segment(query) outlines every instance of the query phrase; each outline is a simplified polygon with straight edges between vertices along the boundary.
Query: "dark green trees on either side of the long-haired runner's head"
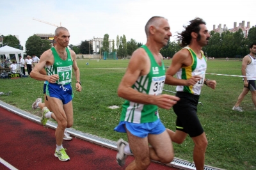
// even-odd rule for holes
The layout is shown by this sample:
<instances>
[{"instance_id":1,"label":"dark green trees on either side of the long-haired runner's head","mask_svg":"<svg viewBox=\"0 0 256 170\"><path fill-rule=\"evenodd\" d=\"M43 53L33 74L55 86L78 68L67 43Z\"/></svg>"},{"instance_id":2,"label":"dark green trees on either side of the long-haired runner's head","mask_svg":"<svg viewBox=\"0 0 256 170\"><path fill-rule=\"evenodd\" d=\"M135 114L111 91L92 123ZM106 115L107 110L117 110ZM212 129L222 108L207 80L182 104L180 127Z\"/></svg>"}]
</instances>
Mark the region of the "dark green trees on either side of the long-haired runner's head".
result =
<instances>
[{"instance_id":1,"label":"dark green trees on either side of the long-haired runner's head","mask_svg":"<svg viewBox=\"0 0 256 170\"><path fill-rule=\"evenodd\" d=\"M256 27L252 27L248 31L247 38L244 37L242 29L232 33L225 31L223 33L210 32L211 38L208 45L203 47L205 56L214 58L236 58L238 56L246 56L250 53L249 47L252 43L256 43ZM168 42L160 52L163 57L170 57L181 49L180 42Z\"/></svg>"}]
</instances>

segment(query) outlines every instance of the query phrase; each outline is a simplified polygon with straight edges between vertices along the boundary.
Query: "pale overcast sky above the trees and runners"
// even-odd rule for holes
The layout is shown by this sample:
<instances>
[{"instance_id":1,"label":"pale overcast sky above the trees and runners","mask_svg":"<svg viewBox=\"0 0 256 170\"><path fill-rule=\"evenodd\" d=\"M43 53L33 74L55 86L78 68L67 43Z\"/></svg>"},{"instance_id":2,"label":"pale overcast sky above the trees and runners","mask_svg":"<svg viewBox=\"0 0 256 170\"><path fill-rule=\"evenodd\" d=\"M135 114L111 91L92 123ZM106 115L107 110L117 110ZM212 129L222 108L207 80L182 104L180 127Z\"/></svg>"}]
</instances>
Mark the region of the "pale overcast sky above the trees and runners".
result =
<instances>
[{"instance_id":1,"label":"pale overcast sky above the trees and runners","mask_svg":"<svg viewBox=\"0 0 256 170\"><path fill-rule=\"evenodd\" d=\"M234 22L239 26L243 20L245 26L250 22L252 27L256 25L256 18L250 6L254 5L255 0L1 0L0 34L18 35L24 47L29 36L54 34L56 27L33 20L35 18L59 26L61 22L70 32L70 44L74 45L93 36L103 38L105 34L115 42L117 35L125 35L127 41L132 38L146 43L144 27L150 17L168 19L173 35L195 17L204 19L209 31L214 24L216 27L226 24L230 29Z\"/></svg>"}]
</instances>

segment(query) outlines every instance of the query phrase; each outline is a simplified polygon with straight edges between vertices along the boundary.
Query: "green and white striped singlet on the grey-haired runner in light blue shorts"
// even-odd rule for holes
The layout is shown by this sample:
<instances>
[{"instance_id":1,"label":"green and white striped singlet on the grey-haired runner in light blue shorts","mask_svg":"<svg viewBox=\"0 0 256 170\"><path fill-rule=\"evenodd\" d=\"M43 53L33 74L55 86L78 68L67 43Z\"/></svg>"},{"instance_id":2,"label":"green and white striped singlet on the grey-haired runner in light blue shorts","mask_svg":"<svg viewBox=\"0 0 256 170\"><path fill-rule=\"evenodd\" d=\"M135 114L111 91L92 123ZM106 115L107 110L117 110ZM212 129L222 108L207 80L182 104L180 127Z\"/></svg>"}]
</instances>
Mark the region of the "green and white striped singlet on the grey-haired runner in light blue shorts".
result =
<instances>
[{"instance_id":1,"label":"green and white striped singlet on the grey-haired runner in light blue shorts","mask_svg":"<svg viewBox=\"0 0 256 170\"><path fill-rule=\"evenodd\" d=\"M147 75L138 77L132 88L148 95L161 95L165 81L165 69L159 66L146 45L141 46L150 58L150 72ZM143 64L143 63L141 63ZM125 100L122 105L122 114L120 121L129 121L131 123L148 123L159 119L157 105L137 104Z\"/></svg>"}]
</instances>

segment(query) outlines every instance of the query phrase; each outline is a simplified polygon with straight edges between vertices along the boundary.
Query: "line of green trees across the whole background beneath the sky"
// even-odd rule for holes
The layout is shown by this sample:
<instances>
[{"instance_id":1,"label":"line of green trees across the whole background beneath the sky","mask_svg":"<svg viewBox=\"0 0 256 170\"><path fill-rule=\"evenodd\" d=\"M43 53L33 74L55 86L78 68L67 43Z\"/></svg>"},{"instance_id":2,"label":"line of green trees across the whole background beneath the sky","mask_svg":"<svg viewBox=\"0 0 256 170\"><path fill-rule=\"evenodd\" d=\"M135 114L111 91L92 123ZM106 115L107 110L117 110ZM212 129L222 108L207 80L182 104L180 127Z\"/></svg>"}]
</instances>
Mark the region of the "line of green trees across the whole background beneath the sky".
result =
<instances>
[{"instance_id":1,"label":"line of green trees across the whole background beneath the sky","mask_svg":"<svg viewBox=\"0 0 256 170\"><path fill-rule=\"evenodd\" d=\"M242 29L237 32L232 33L230 31L225 31L223 33L210 32L211 38L209 44L203 47L205 56L214 58L236 58L236 56L246 56L250 53L249 46L252 43L256 43L256 27L252 27L248 31L247 38L244 37ZM1 36L3 38L3 46L8 45L17 49L23 50L22 45L20 45L19 40L13 35ZM116 40L111 40L111 48L109 48L109 35L105 34L100 50L95 52L116 52L119 58L124 58L126 56L131 56L134 50L138 49L143 45L140 42L132 39L127 42L126 36L116 36ZM29 36L26 41L26 54L32 56L40 56L45 50L50 49L52 44L48 40L42 40L39 36L33 35ZM81 45L68 45L68 47L76 54L93 54L93 45L90 41L81 41ZM115 48L116 47L116 48ZM163 57L170 57L181 49L179 41L168 41L167 45L163 47L160 52ZM3 56L2 56L3 58Z\"/></svg>"}]
</instances>

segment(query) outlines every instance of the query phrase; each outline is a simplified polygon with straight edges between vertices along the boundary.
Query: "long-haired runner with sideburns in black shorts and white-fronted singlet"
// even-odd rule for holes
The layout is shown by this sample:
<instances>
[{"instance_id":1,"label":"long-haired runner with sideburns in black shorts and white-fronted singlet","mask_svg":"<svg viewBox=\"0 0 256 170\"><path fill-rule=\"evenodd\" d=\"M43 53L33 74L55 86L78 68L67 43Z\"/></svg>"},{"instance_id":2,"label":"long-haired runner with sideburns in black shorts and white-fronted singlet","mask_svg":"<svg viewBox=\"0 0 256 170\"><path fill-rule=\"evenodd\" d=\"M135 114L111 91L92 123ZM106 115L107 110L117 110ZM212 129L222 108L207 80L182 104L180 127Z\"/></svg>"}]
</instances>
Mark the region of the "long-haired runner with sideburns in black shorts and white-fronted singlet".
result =
<instances>
[{"instance_id":1,"label":"long-haired runner with sideburns in black shorts and white-fronted singlet","mask_svg":"<svg viewBox=\"0 0 256 170\"><path fill-rule=\"evenodd\" d=\"M202 86L207 84L212 89L216 87L216 81L205 79L207 68L206 59L202 47L207 45L210 38L204 20L196 18L190 21L179 40L184 49L177 52L172 59L170 68L166 71L166 84L177 86L176 96L180 98L173 105L173 111L177 114L176 131L167 129L168 134L175 143L182 143L187 134L195 143L194 162L197 170L204 169L205 150L207 139L200 121L196 115L197 104ZM177 78L173 77L177 75Z\"/></svg>"}]
</instances>

